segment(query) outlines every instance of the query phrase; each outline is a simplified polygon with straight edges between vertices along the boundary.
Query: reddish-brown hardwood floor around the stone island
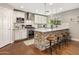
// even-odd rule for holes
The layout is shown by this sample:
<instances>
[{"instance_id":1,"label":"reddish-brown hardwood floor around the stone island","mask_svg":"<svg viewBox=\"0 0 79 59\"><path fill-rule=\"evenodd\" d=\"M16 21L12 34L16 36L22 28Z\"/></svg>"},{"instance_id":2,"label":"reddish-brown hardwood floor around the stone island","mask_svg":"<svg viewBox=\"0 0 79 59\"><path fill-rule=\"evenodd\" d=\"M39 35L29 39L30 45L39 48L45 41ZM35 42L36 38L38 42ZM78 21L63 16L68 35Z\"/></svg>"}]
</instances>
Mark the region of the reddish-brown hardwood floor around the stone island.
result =
<instances>
[{"instance_id":1,"label":"reddish-brown hardwood floor around the stone island","mask_svg":"<svg viewBox=\"0 0 79 59\"><path fill-rule=\"evenodd\" d=\"M58 54L79 55L79 42L72 41L68 47L58 51ZM40 51L34 45L26 46L23 41L20 41L0 48L0 55L49 55L49 49Z\"/></svg>"}]
</instances>

